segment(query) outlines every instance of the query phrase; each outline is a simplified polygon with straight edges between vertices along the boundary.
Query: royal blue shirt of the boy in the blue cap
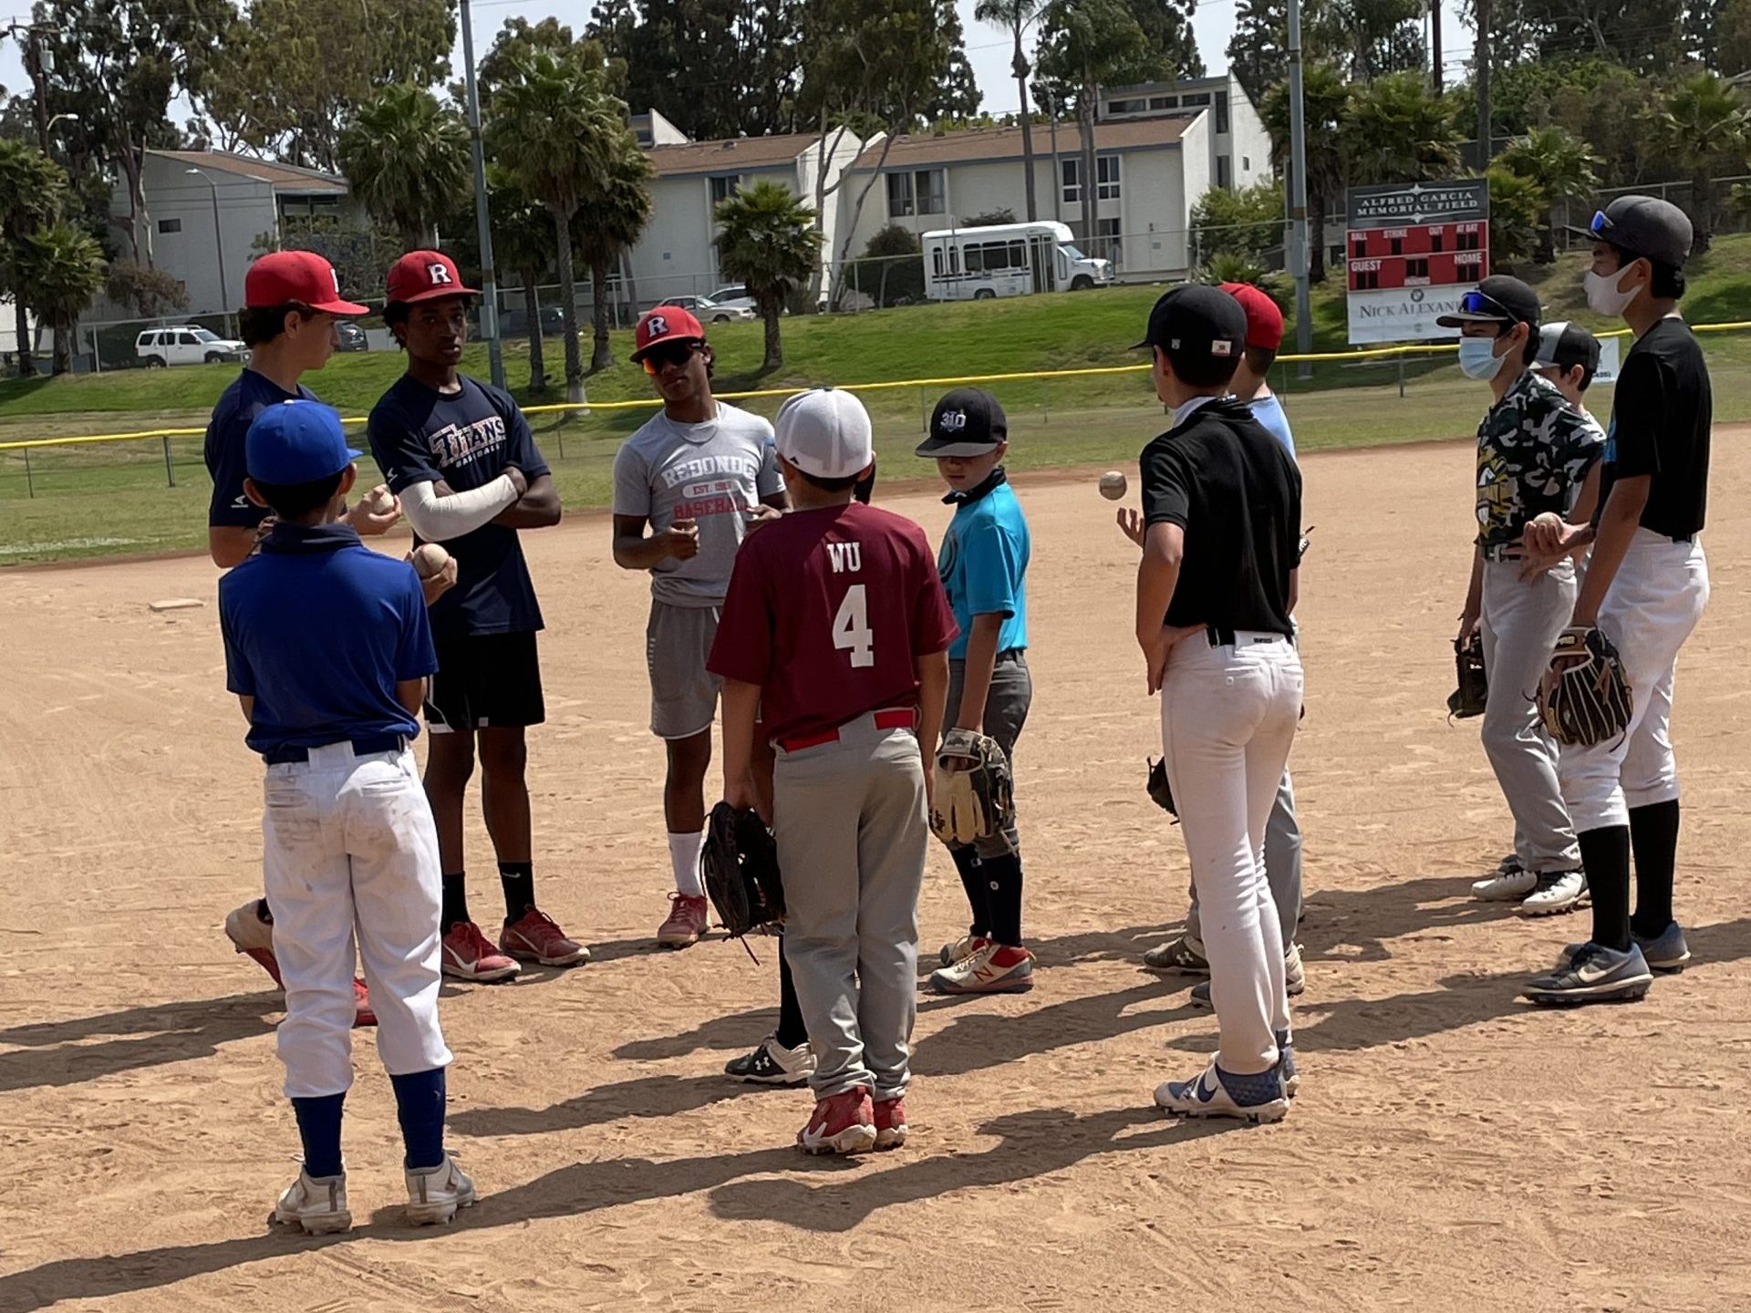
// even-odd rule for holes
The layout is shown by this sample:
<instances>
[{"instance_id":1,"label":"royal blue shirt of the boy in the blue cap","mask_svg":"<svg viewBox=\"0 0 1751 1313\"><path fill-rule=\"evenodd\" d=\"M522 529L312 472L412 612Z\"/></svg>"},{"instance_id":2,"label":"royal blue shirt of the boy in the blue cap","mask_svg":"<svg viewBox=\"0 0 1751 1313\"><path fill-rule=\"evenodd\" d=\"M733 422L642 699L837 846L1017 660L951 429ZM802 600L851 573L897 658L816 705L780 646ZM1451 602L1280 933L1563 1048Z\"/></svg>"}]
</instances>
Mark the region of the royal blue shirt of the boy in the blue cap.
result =
<instances>
[{"instance_id":1,"label":"royal blue shirt of the boy in the blue cap","mask_svg":"<svg viewBox=\"0 0 1751 1313\"><path fill-rule=\"evenodd\" d=\"M420 576L348 525L275 525L219 579L219 632L226 688L256 699L243 742L257 753L420 732L396 700L397 683L438 671Z\"/></svg>"}]
</instances>

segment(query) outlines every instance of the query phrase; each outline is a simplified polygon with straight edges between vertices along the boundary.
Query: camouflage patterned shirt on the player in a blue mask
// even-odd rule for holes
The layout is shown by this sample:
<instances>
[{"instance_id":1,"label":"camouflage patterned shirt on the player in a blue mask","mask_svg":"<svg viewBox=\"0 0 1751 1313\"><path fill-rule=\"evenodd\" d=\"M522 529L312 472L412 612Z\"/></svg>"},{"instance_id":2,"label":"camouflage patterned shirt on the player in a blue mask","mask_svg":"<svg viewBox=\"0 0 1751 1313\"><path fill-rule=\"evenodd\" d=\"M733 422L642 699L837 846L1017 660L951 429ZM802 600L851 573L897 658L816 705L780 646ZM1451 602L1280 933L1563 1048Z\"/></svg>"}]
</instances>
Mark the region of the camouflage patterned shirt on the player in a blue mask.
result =
<instances>
[{"instance_id":1,"label":"camouflage patterned shirt on the player in a blue mask","mask_svg":"<svg viewBox=\"0 0 1751 1313\"><path fill-rule=\"evenodd\" d=\"M1543 511L1567 515L1606 432L1555 383L1527 369L1478 425L1478 543L1518 543Z\"/></svg>"}]
</instances>

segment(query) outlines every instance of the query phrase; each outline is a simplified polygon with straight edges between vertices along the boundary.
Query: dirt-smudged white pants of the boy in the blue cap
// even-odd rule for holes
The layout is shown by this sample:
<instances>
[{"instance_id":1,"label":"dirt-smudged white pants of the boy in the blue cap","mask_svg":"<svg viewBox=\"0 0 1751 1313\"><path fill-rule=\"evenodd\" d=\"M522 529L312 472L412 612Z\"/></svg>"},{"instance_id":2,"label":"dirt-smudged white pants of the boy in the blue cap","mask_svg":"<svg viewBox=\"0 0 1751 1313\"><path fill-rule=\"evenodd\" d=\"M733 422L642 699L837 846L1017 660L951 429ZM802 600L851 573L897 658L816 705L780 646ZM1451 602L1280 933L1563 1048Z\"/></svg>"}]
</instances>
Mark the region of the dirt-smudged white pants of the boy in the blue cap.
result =
<instances>
[{"instance_id":1,"label":"dirt-smudged white pants of the boy in the blue cap","mask_svg":"<svg viewBox=\"0 0 1751 1313\"><path fill-rule=\"evenodd\" d=\"M447 1066L438 832L413 753L312 748L308 762L270 765L263 795L263 875L285 980L285 1094L322 1098L352 1085L355 959L389 1073Z\"/></svg>"}]
</instances>

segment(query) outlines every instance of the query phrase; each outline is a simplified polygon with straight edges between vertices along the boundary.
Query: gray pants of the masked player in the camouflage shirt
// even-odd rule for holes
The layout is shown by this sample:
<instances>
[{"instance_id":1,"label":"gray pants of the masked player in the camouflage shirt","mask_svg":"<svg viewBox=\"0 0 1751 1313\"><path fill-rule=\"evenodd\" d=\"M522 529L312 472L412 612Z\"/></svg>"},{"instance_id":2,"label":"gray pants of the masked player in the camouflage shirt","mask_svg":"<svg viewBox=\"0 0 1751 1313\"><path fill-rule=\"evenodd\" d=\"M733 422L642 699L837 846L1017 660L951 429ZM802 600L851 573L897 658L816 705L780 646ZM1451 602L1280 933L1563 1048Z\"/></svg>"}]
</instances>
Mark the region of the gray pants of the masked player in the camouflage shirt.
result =
<instances>
[{"instance_id":1,"label":"gray pants of the masked player in the camouflage shirt","mask_svg":"<svg viewBox=\"0 0 1751 1313\"><path fill-rule=\"evenodd\" d=\"M1515 854L1530 872L1574 870L1581 846L1557 776L1557 744L1537 711L1537 685L1564 627L1574 618L1574 562L1530 583L1518 560L1483 562L1483 751L1515 818Z\"/></svg>"}]
</instances>

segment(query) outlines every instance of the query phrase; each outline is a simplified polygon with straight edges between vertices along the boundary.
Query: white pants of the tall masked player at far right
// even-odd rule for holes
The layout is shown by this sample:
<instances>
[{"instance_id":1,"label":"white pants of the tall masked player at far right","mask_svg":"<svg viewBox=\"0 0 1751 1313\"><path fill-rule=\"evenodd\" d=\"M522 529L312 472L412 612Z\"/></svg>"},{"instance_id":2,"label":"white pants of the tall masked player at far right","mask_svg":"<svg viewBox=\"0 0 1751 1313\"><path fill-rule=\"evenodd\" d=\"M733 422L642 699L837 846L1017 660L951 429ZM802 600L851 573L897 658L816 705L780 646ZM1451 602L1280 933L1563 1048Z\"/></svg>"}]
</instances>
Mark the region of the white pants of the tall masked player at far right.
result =
<instances>
[{"instance_id":1,"label":"white pants of the tall masked player at far right","mask_svg":"<svg viewBox=\"0 0 1751 1313\"><path fill-rule=\"evenodd\" d=\"M1677 798L1672 758L1672 679L1677 649L1709 604L1702 541L1674 543L1637 529L1604 602L1599 630L1630 683L1630 728L1592 748L1564 748L1562 793L1578 832L1630 823L1632 807Z\"/></svg>"}]
</instances>

